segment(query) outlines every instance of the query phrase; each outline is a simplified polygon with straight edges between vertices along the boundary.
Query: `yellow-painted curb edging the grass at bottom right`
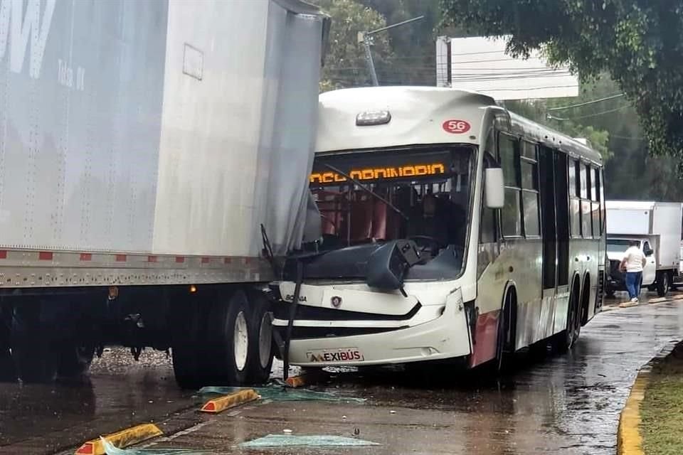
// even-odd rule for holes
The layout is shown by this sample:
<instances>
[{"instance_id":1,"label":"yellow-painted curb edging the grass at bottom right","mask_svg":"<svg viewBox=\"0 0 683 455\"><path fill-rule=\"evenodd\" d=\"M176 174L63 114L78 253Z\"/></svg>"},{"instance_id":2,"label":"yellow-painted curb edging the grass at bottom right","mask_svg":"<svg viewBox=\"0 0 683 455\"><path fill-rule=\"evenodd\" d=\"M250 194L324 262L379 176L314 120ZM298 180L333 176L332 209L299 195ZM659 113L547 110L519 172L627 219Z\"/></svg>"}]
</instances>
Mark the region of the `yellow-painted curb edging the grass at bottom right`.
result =
<instances>
[{"instance_id":1,"label":"yellow-painted curb edging the grass at bottom right","mask_svg":"<svg viewBox=\"0 0 683 455\"><path fill-rule=\"evenodd\" d=\"M652 367L662 361L678 345L679 341L671 341L650 362L640 368L635 382L619 416L617 429L618 455L644 455L642 436L640 434L640 403L645 398L645 389L650 383Z\"/></svg>"}]
</instances>

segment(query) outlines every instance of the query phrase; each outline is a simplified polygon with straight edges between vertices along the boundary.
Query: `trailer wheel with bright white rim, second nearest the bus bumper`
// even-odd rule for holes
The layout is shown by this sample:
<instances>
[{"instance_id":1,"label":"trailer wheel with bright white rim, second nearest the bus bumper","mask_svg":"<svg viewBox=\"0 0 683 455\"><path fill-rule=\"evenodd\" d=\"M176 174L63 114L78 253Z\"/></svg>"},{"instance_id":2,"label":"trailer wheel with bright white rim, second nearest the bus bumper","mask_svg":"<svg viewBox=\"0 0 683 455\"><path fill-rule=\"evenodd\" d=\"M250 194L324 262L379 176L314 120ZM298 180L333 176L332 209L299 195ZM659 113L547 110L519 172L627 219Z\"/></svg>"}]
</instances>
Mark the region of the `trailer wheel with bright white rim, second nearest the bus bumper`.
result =
<instances>
[{"instance_id":1,"label":"trailer wheel with bright white rim, second nearest the bus bumper","mask_svg":"<svg viewBox=\"0 0 683 455\"><path fill-rule=\"evenodd\" d=\"M244 385L248 382L250 324L247 296L236 291L228 300L217 301L208 323L212 355L211 372L216 385Z\"/></svg>"}]
</instances>

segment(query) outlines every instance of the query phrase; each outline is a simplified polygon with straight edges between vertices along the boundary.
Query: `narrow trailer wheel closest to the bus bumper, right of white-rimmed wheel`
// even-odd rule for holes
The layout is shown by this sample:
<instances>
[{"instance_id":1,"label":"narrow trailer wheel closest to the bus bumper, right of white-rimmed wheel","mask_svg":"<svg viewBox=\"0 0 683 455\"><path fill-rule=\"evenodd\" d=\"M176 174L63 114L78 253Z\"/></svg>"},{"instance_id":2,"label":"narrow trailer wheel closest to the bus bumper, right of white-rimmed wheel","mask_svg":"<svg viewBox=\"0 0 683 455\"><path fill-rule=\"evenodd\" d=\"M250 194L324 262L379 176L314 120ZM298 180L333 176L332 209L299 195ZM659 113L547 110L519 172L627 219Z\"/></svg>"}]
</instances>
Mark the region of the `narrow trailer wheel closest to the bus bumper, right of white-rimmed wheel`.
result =
<instances>
[{"instance_id":1,"label":"narrow trailer wheel closest to the bus bumper, right of white-rimmed wheel","mask_svg":"<svg viewBox=\"0 0 683 455\"><path fill-rule=\"evenodd\" d=\"M250 295L250 308L252 309L251 340L250 348L251 364L249 369L249 382L253 384L265 384L270 379L272 359L275 350L272 341L272 311L268 301L260 295Z\"/></svg>"}]
</instances>

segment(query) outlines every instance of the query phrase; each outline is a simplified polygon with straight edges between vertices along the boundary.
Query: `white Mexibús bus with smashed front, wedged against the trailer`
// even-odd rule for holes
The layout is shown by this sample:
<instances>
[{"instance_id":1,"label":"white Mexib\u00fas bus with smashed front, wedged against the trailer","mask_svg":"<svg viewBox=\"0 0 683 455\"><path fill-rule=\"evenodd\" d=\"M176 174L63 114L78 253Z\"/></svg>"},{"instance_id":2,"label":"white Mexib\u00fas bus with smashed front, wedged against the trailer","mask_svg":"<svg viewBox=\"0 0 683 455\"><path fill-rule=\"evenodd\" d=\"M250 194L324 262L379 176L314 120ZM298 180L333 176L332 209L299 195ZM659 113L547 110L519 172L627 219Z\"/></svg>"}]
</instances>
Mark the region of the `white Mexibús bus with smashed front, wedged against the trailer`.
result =
<instances>
[{"instance_id":1,"label":"white Mexib\u00fas bus with smashed front, wedged against the trailer","mask_svg":"<svg viewBox=\"0 0 683 455\"><path fill-rule=\"evenodd\" d=\"M320 96L316 151L322 235L272 284L292 365L500 365L571 348L600 311L603 173L581 141L475 92L369 87Z\"/></svg>"}]
</instances>

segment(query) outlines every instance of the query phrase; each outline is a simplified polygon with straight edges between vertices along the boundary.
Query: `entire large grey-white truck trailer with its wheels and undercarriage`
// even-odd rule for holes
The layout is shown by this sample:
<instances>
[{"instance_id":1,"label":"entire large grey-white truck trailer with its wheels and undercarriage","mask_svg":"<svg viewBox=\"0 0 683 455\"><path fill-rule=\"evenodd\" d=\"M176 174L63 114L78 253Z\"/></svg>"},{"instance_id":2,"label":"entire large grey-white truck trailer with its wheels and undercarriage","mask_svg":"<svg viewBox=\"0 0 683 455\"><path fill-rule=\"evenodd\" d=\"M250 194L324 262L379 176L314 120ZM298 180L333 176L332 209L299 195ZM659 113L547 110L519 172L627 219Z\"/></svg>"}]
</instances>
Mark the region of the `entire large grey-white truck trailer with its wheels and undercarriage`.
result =
<instances>
[{"instance_id":1,"label":"entire large grey-white truck trailer with its wheels and undercarriage","mask_svg":"<svg viewBox=\"0 0 683 455\"><path fill-rule=\"evenodd\" d=\"M0 0L2 379L106 343L268 378L263 233L302 239L328 30L298 0Z\"/></svg>"}]
</instances>

